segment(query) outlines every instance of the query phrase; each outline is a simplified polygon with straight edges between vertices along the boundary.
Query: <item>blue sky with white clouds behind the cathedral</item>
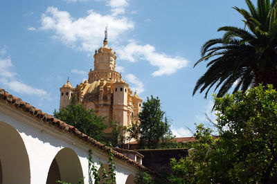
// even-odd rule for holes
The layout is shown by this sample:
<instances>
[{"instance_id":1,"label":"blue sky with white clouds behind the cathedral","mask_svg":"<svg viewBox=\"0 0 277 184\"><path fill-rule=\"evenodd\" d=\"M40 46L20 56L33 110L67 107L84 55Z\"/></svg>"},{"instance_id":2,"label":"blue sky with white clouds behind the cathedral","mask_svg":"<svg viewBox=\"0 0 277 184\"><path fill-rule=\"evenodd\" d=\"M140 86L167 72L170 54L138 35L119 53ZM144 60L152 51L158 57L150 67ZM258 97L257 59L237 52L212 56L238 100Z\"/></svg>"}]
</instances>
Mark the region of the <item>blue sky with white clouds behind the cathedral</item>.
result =
<instances>
[{"instance_id":1,"label":"blue sky with white clouds behind the cathedral","mask_svg":"<svg viewBox=\"0 0 277 184\"><path fill-rule=\"evenodd\" d=\"M108 24L116 71L139 96L159 96L177 136L205 122L210 93L193 96L206 65L193 64L220 26L244 27L233 6L242 0L48 0L0 2L0 88L52 114L60 87L75 86L93 69Z\"/></svg>"}]
</instances>

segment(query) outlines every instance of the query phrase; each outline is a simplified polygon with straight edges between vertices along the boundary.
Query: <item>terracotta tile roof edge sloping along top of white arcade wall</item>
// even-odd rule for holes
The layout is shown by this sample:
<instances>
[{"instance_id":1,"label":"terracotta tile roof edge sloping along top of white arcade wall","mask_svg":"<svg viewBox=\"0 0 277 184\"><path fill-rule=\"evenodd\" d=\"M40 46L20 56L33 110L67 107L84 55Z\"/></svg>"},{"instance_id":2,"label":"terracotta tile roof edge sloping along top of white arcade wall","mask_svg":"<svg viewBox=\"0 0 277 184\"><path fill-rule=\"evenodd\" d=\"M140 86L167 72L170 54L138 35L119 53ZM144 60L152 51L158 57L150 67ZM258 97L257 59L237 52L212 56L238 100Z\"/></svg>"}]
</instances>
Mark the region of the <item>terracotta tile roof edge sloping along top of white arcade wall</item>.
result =
<instances>
[{"instance_id":1,"label":"terracotta tile roof edge sloping along top of white arcade wall","mask_svg":"<svg viewBox=\"0 0 277 184\"><path fill-rule=\"evenodd\" d=\"M15 107L18 110L24 111L24 113L28 113L33 118L37 120L42 120L47 125L51 125L53 129L61 129L63 130L64 134L72 134L75 136L75 138L79 138L80 140L89 143L93 147L100 149L101 151L105 153L109 153L109 147L103 145L102 143L98 142L97 140L94 140L93 138L87 136L86 134L82 134L82 132L78 131L75 127L66 124L66 122L63 122L62 120L59 120L57 118L54 118L53 116L44 113L40 109L37 109L33 107L32 105L28 104L27 102L22 101L20 98L17 98L13 95L10 95L8 92L6 92L4 89L0 88L0 101L7 102L11 106ZM39 121L38 121L39 122ZM134 167L140 169L143 172L150 172L150 170L143 165L140 165L139 163L136 163L136 161L128 158L127 156L118 153L117 151L114 151L114 156L120 160L123 160L126 163L129 163L131 165L134 165Z\"/></svg>"}]
</instances>

